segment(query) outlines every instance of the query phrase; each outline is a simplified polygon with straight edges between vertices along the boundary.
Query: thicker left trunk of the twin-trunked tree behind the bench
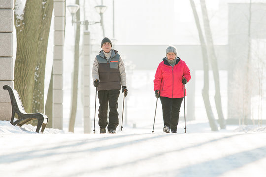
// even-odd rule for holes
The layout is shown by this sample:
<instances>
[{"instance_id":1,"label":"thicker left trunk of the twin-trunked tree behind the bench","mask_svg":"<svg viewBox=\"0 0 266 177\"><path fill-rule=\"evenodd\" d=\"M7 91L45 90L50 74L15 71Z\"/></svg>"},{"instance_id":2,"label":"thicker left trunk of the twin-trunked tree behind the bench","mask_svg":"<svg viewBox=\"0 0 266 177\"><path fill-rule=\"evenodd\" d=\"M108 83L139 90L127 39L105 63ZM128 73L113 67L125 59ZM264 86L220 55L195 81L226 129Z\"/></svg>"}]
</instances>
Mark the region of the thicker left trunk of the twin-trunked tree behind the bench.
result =
<instances>
[{"instance_id":1,"label":"thicker left trunk of the twin-trunked tree behind the bench","mask_svg":"<svg viewBox=\"0 0 266 177\"><path fill-rule=\"evenodd\" d=\"M38 42L42 17L42 1L27 0L23 18L15 15L17 53L14 85L26 112L32 112L34 75L38 58ZM16 6L15 6L16 10Z\"/></svg>"}]
</instances>

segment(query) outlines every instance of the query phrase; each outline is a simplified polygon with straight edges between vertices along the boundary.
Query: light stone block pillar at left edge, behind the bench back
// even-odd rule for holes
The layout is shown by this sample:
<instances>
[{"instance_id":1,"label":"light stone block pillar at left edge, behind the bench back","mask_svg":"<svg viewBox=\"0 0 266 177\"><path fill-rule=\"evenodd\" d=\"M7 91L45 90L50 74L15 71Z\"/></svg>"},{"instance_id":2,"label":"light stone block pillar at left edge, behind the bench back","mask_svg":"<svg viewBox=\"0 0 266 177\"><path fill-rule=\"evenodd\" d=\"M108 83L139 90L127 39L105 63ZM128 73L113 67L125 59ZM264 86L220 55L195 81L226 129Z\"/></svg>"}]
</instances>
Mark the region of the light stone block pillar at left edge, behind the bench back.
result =
<instances>
[{"instance_id":1,"label":"light stone block pillar at left edge, behind the bench back","mask_svg":"<svg viewBox=\"0 0 266 177\"><path fill-rule=\"evenodd\" d=\"M14 0L0 0L0 120L10 120L12 107L4 85L14 87L13 26Z\"/></svg>"}]
</instances>

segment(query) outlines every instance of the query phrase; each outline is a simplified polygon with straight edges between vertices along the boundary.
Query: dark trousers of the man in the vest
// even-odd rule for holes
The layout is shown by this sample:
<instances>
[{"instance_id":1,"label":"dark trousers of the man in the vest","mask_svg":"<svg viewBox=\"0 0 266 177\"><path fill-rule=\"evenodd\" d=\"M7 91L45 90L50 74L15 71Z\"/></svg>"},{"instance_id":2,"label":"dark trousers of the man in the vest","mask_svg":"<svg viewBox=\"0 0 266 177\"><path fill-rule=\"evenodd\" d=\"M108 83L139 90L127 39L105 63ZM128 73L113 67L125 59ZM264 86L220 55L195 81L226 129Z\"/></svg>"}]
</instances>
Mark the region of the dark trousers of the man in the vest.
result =
<instances>
[{"instance_id":1,"label":"dark trousers of the man in the vest","mask_svg":"<svg viewBox=\"0 0 266 177\"><path fill-rule=\"evenodd\" d=\"M99 114L98 114L98 125L100 128L106 128L108 131L115 130L118 126L119 120L118 120L118 97L119 97L120 91L119 90L100 90L98 91L98 99L99 99ZM108 102L109 102L109 124L107 122L107 113L108 113Z\"/></svg>"}]
</instances>

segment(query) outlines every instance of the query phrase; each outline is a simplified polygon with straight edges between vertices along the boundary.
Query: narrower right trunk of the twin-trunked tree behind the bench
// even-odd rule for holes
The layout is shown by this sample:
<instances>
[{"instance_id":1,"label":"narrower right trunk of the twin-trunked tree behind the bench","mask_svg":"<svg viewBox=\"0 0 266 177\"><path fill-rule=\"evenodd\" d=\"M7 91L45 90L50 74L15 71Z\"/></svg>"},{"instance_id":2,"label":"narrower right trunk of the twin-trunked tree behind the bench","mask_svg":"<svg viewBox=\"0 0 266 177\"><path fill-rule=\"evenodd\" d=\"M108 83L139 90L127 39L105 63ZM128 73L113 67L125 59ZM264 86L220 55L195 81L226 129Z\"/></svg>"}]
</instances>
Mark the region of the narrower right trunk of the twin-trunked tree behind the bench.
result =
<instances>
[{"instance_id":1,"label":"narrower right trunk of the twin-trunked tree behind the bench","mask_svg":"<svg viewBox=\"0 0 266 177\"><path fill-rule=\"evenodd\" d=\"M33 112L44 113L44 77L45 77L45 64L48 46L48 38L51 26L53 12L53 0L43 0L42 21L40 24L40 33L36 58L35 70L35 87L33 92Z\"/></svg>"}]
</instances>

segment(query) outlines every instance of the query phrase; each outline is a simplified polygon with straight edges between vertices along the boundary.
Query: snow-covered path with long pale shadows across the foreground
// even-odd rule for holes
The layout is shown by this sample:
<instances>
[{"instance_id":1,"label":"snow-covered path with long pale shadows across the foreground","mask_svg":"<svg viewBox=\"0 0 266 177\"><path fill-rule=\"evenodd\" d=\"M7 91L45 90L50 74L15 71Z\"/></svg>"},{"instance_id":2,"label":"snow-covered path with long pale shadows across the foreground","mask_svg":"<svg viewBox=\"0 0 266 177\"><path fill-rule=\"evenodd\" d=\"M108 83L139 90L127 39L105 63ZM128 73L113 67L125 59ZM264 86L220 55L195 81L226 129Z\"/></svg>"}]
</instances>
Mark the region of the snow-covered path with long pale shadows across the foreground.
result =
<instances>
[{"instance_id":1,"label":"snow-covered path with long pale shadows across the foreground","mask_svg":"<svg viewBox=\"0 0 266 177\"><path fill-rule=\"evenodd\" d=\"M265 177L265 168L266 133L0 134L0 177Z\"/></svg>"}]
</instances>

